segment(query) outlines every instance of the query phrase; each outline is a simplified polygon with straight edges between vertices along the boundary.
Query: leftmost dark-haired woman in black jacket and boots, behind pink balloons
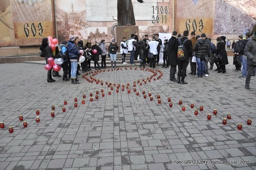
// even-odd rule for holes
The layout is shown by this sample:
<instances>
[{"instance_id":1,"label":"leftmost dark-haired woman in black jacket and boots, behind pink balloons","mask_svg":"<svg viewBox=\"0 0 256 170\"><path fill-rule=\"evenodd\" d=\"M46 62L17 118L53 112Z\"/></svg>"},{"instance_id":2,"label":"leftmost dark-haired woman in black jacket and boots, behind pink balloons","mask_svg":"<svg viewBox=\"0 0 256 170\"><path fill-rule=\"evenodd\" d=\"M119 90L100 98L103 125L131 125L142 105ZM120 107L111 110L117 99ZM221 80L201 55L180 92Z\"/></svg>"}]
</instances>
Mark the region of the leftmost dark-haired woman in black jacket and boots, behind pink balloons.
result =
<instances>
[{"instance_id":1,"label":"leftmost dark-haired woman in black jacket and boots, behind pink balloons","mask_svg":"<svg viewBox=\"0 0 256 170\"><path fill-rule=\"evenodd\" d=\"M45 56L45 60L46 60L46 64L49 64L47 62L47 59L52 57L54 58L54 55L52 53L52 48L50 48L49 46L49 39L48 38L43 38L42 39L42 44L40 46L40 50L44 52L44 56ZM52 68L51 70L48 70L48 73L47 73L47 82L50 83L50 82L55 82L55 80L52 79Z\"/></svg>"}]
</instances>

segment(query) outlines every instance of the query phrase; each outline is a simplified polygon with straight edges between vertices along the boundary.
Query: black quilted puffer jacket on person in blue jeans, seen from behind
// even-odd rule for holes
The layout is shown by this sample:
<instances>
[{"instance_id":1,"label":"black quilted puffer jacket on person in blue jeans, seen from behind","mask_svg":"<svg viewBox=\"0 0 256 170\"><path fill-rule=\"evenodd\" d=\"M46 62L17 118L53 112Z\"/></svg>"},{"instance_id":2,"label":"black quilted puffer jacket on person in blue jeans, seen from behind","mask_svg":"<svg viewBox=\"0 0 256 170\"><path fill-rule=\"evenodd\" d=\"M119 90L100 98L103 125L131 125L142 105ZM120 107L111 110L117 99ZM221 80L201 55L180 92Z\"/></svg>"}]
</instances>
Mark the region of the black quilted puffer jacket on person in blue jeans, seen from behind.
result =
<instances>
[{"instance_id":1,"label":"black quilted puffer jacket on person in blue jeans, seen from behind","mask_svg":"<svg viewBox=\"0 0 256 170\"><path fill-rule=\"evenodd\" d=\"M198 39L194 46L194 51L196 58L202 58L202 56L208 55L208 44L206 40L203 38Z\"/></svg>"}]
</instances>

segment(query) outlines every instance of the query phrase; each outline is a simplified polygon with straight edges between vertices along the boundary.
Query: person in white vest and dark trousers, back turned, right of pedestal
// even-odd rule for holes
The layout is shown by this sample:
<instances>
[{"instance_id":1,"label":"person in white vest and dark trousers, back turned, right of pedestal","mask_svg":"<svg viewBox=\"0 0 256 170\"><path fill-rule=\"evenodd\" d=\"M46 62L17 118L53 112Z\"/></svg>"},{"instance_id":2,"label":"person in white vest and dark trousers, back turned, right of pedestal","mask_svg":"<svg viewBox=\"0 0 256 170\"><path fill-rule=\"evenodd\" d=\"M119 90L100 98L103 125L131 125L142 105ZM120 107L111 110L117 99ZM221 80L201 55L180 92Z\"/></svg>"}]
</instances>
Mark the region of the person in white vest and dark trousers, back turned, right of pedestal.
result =
<instances>
[{"instance_id":1,"label":"person in white vest and dark trousers, back turned, right of pedestal","mask_svg":"<svg viewBox=\"0 0 256 170\"><path fill-rule=\"evenodd\" d=\"M158 50L160 50L160 44L156 41L156 37L152 36L152 41L146 42L148 44L148 48L150 50L150 53L153 53L153 58L149 58L149 67L155 68L156 67L156 56L158 54Z\"/></svg>"}]
</instances>

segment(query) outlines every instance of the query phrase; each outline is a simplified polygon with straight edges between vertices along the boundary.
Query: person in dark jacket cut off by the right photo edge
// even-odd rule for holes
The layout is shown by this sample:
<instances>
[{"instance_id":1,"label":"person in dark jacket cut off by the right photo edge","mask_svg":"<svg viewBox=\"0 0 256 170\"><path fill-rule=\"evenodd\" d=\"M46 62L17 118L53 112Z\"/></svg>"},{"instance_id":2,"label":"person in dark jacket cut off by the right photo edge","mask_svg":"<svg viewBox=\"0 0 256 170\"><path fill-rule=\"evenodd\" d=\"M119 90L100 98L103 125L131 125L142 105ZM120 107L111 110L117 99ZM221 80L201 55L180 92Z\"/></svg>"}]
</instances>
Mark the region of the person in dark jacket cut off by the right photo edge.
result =
<instances>
[{"instance_id":1,"label":"person in dark jacket cut off by the right photo edge","mask_svg":"<svg viewBox=\"0 0 256 170\"><path fill-rule=\"evenodd\" d=\"M252 35L244 48L244 55L247 56L248 72L246 74L245 88L250 89L250 80L253 70L256 69L256 32Z\"/></svg>"}]
</instances>

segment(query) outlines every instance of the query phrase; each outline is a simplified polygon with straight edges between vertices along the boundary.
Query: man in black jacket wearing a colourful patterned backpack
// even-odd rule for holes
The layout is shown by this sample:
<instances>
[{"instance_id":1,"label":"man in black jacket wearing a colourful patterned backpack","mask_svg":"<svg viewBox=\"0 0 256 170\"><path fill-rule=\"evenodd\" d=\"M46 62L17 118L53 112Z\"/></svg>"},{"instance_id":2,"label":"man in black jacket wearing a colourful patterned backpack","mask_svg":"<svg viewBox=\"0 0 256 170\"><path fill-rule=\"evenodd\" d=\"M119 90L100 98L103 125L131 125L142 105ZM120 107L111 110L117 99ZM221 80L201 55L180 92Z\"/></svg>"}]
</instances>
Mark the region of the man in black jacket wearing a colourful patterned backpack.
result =
<instances>
[{"instance_id":1,"label":"man in black jacket wearing a colourful patterned backpack","mask_svg":"<svg viewBox=\"0 0 256 170\"><path fill-rule=\"evenodd\" d=\"M188 34L189 32L185 30L183 32L183 37L180 38L180 41L183 43L186 39L188 39ZM176 48L178 49L178 46L180 45L180 42L177 41ZM193 53L193 47L192 47L192 41L191 40L186 40L183 44L184 46L184 60L178 60L178 80L177 83L180 84L188 84L185 82L185 76L186 76L186 71L189 63L189 57L192 56ZM181 80L180 80L181 78Z\"/></svg>"}]
</instances>

